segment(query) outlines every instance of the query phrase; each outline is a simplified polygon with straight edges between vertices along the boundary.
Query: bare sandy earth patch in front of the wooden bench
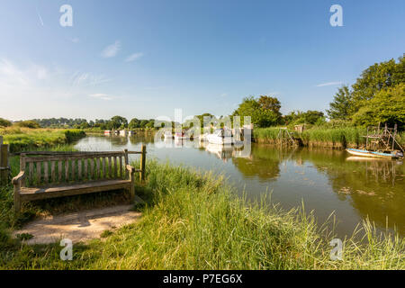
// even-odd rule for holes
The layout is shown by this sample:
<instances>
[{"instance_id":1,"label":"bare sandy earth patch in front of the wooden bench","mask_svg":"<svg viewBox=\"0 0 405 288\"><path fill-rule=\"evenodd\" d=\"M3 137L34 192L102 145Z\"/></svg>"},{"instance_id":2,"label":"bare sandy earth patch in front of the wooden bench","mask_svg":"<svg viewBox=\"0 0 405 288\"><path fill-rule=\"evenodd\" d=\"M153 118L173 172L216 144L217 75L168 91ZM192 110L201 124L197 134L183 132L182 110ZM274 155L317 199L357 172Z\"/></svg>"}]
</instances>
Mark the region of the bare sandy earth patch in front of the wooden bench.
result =
<instances>
[{"instance_id":1,"label":"bare sandy earth patch in front of the wooden bench","mask_svg":"<svg viewBox=\"0 0 405 288\"><path fill-rule=\"evenodd\" d=\"M85 242L99 238L104 230L112 231L139 220L141 213L130 211L132 207L121 205L50 216L27 223L23 229L14 231L13 235L31 234L33 238L25 240L26 244L49 244L62 238L68 238L73 243Z\"/></svg>"}]
</instances>

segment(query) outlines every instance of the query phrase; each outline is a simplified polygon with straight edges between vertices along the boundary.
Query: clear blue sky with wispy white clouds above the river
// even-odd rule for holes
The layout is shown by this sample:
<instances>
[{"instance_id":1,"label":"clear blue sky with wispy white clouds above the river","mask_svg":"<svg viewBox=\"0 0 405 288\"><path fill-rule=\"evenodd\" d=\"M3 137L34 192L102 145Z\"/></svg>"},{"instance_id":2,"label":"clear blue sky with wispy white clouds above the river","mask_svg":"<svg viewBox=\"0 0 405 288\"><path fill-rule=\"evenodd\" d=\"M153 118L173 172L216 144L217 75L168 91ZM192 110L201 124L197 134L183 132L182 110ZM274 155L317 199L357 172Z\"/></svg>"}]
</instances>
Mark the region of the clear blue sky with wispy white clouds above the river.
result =
<instances>
[{"instance_id":1,"label":"clear blue sky with wispy white clouds above the river","mask_svg":"<svg viewBox=\"0 0 405 288\"><path fill-rule=\"evenodd\" d=\"M323 111L339 85L399 58L404 36L403 0L2 1L0 117L224 115L260 94Z\"/></svg>"}]
</instances>

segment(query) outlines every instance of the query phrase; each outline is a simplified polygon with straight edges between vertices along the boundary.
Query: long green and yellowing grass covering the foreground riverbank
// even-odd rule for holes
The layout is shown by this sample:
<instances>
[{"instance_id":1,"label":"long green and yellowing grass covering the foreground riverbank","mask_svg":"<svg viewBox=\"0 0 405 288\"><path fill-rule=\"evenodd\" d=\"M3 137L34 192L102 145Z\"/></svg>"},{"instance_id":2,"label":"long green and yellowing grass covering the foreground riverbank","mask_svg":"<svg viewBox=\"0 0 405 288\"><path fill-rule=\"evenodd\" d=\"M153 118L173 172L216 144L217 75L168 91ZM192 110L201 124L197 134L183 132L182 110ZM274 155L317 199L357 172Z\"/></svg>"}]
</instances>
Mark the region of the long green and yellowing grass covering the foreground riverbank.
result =
<instances>
[{"instance_id":1,"label":"long green and yellowing grass covering the foreground riverbank","mask_svg":"<svg viewBox=\"0 0 405 288\"><path fill-rule=\"evenodd\" d=\"M364 224L363 243L344 241L344 260L332 261L333 238L300 210L265 201L249 204L223 179L148 162L147 200L137 224L103 239L75 244L61 261L58 243L27 247L4 238L0 267L13 269L404 269L403 238L380 238ZM325 226L326 227L326 226Z\"/></svg>"}]
</instances>

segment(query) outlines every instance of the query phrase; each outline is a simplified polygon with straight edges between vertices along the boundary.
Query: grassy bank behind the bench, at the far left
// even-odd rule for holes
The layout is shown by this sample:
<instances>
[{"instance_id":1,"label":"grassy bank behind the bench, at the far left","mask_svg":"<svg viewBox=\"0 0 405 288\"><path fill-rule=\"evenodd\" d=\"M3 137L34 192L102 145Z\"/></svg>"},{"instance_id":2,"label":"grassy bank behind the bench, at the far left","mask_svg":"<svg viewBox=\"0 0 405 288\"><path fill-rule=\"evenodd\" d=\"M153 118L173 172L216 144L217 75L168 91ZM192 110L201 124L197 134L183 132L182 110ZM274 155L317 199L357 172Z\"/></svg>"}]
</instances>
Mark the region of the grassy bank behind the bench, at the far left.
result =
<instances>
[{"instance_id":1,"label":"grassy bank behind the bench, at the far left","mask_svg":"<svg viewBox=\"0 0 405 288\"><path fill-rule=\"evenodd\" d=\"M0 129L0 135L4 137L4 144L10 145L10 151L17 152L65 145L85 137L85 131L9 127Z\"/></svg>"}]
</instances>

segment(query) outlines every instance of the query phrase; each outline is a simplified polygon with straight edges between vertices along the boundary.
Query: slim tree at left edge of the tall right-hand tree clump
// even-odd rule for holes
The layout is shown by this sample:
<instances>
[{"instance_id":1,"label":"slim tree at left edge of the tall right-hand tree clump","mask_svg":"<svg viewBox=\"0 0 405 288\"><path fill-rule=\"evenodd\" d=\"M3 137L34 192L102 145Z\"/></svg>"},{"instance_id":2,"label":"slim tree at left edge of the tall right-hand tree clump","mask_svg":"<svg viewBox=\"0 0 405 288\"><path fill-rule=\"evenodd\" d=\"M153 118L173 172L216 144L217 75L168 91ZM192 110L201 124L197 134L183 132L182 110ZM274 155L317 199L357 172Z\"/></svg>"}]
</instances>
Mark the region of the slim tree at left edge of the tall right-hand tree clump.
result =
<instances>
[{"instance_id":1,"label":"slim tree at left edge of the tall right-hand tree clump","mask_svg":"<svg viewBox=\"0 0 405 288\"><path fill-rule=\"evenodd\" d=\"M348 120L352 114L352 94L347 85L338 89L332 103L329 103L330 109L327 110L329 119Z\"/></svg>"}]
</instances>

